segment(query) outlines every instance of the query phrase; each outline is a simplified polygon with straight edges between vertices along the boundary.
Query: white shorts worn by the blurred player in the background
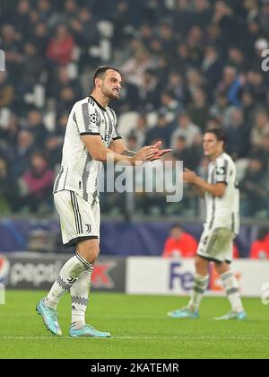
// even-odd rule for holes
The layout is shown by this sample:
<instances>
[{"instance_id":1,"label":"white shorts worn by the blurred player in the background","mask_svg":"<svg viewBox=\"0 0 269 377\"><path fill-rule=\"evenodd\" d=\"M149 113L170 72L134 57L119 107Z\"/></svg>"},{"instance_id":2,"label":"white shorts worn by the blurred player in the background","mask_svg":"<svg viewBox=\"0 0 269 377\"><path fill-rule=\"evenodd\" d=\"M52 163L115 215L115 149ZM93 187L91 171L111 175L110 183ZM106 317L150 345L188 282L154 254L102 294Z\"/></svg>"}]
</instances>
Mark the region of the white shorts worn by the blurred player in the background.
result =
<instances>
[{"instance_id":1,"label":"white shorts worn by the blurred player in the background","mask_svg":"<svg viewBox=\"0 0 269 377\"><path fill-rule=\"evenodd\" d=\"M227 228L204 231L197 255L213 262L231 263L233 259L233 240L236 235Z\"/></svg>"}]
</instances>

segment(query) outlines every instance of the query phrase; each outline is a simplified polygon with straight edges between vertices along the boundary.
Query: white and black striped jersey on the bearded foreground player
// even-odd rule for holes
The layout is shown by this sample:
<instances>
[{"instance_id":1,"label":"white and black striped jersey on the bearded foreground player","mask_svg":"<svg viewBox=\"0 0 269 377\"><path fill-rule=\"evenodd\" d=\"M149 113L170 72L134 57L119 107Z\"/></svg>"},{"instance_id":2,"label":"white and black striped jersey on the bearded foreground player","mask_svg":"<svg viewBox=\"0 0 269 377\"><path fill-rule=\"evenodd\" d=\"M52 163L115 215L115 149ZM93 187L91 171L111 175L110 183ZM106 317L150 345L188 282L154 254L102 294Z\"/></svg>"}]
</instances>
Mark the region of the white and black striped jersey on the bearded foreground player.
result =
<instances>
[{"instance_id":1,"label":"white and black striped jersey on the bearded foreground player","mask_svg":"<svg viewBox=\"0 0 269 377\"><path fill-rule=\"evenodd\" d=\"M114 110L105 109L93 97L87 97L75 103L65 131L63 160L54 194L63 190L74 191L93 204L99 200L98 180L102 162L91 157L81 136L100 136L106 148L113 140L120 139Z\"/></svg>"}]
</instances>

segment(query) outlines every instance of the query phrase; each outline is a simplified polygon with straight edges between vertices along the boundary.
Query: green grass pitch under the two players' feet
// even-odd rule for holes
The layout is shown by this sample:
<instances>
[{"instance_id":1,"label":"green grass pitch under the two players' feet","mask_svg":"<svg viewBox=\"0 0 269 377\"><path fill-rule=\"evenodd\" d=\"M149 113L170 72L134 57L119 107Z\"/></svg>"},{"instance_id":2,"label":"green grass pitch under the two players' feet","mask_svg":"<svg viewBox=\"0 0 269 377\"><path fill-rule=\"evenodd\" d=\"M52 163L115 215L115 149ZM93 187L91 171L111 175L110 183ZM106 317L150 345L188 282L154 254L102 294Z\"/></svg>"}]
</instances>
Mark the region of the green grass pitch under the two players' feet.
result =
<instances>
[{"instance_id":1,"label":"green grass pitch under the two players' feet","mask_svg":"<svg viewBox=\"0 0 269 377\"><path fill-rule=\"evenodd\" d=\"M68 338L70 298L59 304L62 338L43 326L35 305L42 292L6 293L0 305L0 358L185 359L269 358L269 307L244 300L247 322L216 322L229 311L223 298L205 298L201 320L172 320L167 311L186 298L91 294L88 323L113 338Z\"/></svg>"}]
</instances>

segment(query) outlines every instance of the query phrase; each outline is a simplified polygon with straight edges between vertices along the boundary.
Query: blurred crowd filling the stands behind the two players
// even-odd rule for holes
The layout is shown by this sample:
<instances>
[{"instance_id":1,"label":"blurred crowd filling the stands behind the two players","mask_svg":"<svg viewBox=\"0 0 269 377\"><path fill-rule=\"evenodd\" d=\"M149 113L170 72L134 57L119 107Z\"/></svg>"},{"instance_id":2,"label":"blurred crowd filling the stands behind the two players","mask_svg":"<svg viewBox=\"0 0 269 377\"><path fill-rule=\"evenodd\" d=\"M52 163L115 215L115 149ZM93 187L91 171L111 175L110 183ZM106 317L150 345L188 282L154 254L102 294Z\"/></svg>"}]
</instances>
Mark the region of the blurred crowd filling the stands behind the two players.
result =
<instances>
[{"instance_id":1,"label":"blurred crowd filling the stands behind the two players","mask_svg":"<svg viewBox=\"0 0 269 377\"><path fill-rule=\"evenodd\" d=\"M3 4L2 4L3 3ZM0 48L0 213L52 211L68 113L99 65L124 76L113 103L130 150L162 140L167 160L204 176L203 132L223 127L244 216L269 215L269 1L3 0ZM268 65L269 66L269 65ZM184 200L136 195L142 214L197 215ZM123 212L121 197L103 210Z\"/></svg>"}]
</instances>

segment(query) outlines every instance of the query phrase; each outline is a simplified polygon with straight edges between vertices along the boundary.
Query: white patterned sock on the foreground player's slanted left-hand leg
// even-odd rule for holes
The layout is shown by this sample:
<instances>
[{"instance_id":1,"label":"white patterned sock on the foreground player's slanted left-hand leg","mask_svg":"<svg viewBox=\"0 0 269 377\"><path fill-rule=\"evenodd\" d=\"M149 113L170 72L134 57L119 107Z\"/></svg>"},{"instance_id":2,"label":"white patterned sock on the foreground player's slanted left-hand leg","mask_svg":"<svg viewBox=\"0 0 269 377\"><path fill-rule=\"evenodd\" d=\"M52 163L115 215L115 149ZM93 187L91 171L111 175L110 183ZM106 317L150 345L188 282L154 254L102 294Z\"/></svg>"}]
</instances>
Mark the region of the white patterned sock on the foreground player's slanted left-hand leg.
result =
<instances>
[{"instance_id":1,"label":"white patterned sock on the foreground player's slanted left-hand leg","mask_svg":"<svg viewBox=\"0 0 269 377\"><path fill-rule=\"evenodd\" d=\"M78 276L85 270L92 269L85 259L77 254L69 259L65 266L61 269L60 275L50 289L48 296L44 299L44 303L48 308L56 311L57 304L66 292L70 292L72 285L76 282Z\"/></svg>"}]
</instances>

